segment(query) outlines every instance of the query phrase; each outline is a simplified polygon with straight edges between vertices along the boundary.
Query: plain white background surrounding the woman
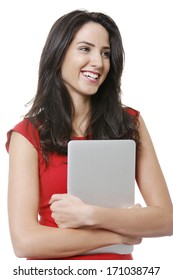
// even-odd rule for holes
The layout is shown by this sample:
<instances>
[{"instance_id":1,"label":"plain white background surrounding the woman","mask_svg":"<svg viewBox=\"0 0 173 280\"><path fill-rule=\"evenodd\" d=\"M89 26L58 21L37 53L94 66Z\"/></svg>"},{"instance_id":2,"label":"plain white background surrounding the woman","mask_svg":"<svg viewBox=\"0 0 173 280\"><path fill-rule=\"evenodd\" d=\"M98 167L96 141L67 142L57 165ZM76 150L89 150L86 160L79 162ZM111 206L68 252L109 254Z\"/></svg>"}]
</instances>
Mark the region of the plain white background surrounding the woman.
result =
<instances>
[{"instance_id":1,"label":"plain white background surrounding the woman","mask_svg":"<svg viewBox=\"0 0 173 280\"><path fill-rule=\"evenodd\" d=\"M38 63L47 34L54 21L66 12L104 12L119 26L126 53L123 102L138 109L144 117L173 197L171 4L171 0L1 0L0 252L4 267L16 261L23 263L13 254L8 231L6 132L28 110L24 105L36 92ZM138 192L136 201L143 204ZM165 264L169 270L171 249L173 237L144 239L135 247L133 256L141 265Z\"/></svg>"}]
</instances>

